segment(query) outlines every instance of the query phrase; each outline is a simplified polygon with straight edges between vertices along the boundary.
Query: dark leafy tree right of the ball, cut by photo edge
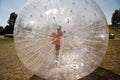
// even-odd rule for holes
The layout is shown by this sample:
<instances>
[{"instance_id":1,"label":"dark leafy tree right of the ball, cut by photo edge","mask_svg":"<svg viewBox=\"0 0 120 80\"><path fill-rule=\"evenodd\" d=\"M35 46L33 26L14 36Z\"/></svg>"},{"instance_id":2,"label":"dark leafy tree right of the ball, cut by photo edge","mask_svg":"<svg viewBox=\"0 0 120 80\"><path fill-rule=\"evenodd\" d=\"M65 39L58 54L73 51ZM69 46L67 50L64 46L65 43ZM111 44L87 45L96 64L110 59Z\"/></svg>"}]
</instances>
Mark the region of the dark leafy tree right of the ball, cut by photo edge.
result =
<instances>
[{"instance_id":1,"label":"dark leafy tree right of the ball, cut by photo edge","mask_svg":"<svg viewBox=\"0 0 120 80\"><path fill-rule=\"evenodd\" d=\"M117 9L114 11L112 14L112 19L111 19L113 27L118 27L120 24L120 9Z\"/></svg>"}]
</instances>

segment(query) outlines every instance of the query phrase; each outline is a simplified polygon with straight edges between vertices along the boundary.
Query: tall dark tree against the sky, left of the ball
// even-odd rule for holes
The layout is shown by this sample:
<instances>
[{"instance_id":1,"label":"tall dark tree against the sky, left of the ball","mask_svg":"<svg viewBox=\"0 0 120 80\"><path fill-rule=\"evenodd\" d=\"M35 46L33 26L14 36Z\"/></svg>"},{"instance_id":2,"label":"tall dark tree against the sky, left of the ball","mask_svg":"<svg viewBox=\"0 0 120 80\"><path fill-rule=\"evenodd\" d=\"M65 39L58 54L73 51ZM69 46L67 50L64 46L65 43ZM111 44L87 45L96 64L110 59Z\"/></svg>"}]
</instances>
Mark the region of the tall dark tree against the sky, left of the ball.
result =
<instances>
[{"instance_id":1,"label":"tall dark tree against the sky, left of the ball","mask_svg":"<svg viewBox=\"0 0 120 80\"><path fill-rule=\"evenodd\" d=\"M5 34L13 34L16 18L17 18L17 14L15 12L12 12L8 19L8 25L6 25L4 28Z\"/></svg>"}]
</instances>

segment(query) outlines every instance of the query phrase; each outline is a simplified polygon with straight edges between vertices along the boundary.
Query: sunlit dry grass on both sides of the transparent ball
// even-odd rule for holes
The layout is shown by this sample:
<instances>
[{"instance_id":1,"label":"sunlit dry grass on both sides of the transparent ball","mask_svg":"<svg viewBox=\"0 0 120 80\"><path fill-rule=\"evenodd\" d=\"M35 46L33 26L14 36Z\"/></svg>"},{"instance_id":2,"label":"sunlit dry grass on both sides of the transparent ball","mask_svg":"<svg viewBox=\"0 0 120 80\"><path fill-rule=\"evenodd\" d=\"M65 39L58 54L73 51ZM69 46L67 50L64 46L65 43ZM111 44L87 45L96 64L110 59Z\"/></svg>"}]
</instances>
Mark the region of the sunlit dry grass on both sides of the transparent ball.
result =
<instances>
[{"instance_id":1,"label":"sunlit dry grass on both sides of the transparent ball","mask_svg":"<svg viewBox=\"0 0 120 80\"><path fill-rule=\"evenodd\" d=\"M110 40L106 56L100 67L120 75L120 40ZM0 80L29 80L32 75L18 59L13 39L0 39Z\"/></svg>"}]
</instances>

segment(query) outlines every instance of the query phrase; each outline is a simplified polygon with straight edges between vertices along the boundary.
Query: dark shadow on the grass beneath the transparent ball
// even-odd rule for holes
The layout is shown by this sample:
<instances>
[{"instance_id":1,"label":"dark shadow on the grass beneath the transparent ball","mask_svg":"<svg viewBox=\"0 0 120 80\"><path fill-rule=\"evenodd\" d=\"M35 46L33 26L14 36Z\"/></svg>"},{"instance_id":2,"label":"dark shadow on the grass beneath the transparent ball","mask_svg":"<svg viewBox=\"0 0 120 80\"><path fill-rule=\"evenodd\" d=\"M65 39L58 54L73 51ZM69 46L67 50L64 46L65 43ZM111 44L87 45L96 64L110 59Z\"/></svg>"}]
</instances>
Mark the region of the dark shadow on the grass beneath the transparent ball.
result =
<instances>
[{"instance_id":1,"label":"dark shadow on the grass beneath the transparent ball","mask_svg":"<svg viewBox=\"0 0 120 80\"><path fill-rule=\"evenodd\" d=\"M45 79L33 75L30 78L30 80L45 80ZM117 75L111 72L110 70L98 67L93 73L79 80L120 80L120 75Z\"/></svg>"}]
</instances>

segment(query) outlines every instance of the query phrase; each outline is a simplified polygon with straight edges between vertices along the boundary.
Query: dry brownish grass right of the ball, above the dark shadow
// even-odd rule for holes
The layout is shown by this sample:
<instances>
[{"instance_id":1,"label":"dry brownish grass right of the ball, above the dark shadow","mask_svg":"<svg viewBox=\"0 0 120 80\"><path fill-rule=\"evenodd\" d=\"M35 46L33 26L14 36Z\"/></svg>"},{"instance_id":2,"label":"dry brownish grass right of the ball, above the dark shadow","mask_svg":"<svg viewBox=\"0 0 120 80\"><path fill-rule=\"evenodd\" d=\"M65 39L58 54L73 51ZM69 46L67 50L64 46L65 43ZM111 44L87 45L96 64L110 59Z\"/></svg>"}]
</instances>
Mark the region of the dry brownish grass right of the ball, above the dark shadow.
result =
<instances>
[{"instance_id":1,"label":"dry brownish grass right of the ball, above the dark shadow","mask_svg":"<svg viewBox=\"0 0 120 80\"><path fill-rule=\"evenodd\" d=\"M120 40L110 40L106 56L100 65L120 75Z\"/></svg>"}]
</instances>

